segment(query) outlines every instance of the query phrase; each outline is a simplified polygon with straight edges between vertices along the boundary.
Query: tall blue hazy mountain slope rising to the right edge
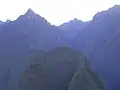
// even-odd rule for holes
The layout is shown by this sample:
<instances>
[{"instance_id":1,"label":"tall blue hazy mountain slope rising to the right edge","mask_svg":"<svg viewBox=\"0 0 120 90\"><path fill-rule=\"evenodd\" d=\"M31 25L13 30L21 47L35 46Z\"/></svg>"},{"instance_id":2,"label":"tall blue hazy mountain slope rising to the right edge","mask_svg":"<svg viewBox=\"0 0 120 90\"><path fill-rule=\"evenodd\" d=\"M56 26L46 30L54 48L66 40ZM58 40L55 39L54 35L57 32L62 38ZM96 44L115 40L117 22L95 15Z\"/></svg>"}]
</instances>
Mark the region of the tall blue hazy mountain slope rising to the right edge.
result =
<instances>
[{"instance_id":1,"label":"tall blue hazy mountain slope rising to the right edge","mask_svg":"<svg viewBox=\"0 0 120 90\"><path fill-rule=\"evenodd\" d=\"M72 47L84 52L108 83L120 89L120 6L97 13L73 38Z\"/></svg>"}]
</instances>

